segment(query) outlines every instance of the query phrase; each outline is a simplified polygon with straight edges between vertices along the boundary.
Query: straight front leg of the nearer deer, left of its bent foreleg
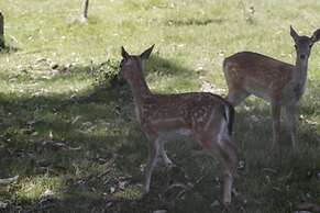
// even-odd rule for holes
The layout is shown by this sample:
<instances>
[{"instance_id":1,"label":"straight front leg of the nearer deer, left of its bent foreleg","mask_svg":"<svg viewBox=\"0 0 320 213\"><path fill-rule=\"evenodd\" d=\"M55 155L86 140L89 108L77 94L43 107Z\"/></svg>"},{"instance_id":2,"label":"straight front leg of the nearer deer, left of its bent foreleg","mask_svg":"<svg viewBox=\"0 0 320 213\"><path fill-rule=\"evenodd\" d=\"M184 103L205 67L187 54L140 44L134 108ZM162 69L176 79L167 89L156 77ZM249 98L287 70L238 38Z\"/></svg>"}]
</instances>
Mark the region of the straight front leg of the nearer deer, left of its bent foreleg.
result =
<instances>
[{"instance_id":1,"label":"straight front leg of the nearer deer, left of its bent foreleg","mask_svg":"<svg viewBox=\"0 0 320 213\"><path fill-rule=\"evenodd\" d=\"M157 157L159 154L159 138L156 138L152 142L151 147L150 147L150 158L147 166L145 168L145 184L144 184L144 191L147 193L150 191L150 182L151 182L151 177L154 167L156 166L157 162Z\"/></svg>"}]
</instances>

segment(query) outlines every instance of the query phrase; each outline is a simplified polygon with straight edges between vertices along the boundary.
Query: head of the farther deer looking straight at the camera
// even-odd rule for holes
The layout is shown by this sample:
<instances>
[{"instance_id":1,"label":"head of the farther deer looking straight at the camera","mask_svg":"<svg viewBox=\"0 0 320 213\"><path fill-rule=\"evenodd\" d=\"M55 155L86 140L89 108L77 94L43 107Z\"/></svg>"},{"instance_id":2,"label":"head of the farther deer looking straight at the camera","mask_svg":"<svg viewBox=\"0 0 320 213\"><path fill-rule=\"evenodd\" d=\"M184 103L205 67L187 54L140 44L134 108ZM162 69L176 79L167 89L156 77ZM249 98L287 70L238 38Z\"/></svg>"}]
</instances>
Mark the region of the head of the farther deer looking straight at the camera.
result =
<instances>
[{"instance_id":1,"label":"head of the farther deer looking straight at the camera","mask_svg":"<svg viewBox=\"0 0 320 213\"><path fill-rule=\"evenodd\" d=\"M297 57L300 60L308 60L312 45L320 40L320 29L315 31L311 37L298 35L293 26L290 26L290 35L294 38Z\"/></svg>"}]
</instances>

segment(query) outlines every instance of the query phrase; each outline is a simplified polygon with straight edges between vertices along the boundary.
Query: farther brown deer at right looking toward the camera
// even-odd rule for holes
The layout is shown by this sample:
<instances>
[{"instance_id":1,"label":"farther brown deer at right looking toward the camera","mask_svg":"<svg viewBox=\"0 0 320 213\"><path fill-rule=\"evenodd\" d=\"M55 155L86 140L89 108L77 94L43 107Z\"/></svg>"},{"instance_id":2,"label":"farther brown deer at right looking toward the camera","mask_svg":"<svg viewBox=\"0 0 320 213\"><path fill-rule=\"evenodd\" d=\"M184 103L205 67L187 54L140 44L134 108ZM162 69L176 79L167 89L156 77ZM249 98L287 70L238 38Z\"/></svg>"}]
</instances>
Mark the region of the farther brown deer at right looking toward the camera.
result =
<instances>
[{"instance_id":1,"label":"farther brown deer at right looking toward the camera","mask_svg":"<svg viewBox=\"0 0 320 213\"><path fill-rule=\"evenodd\" d=\"M271 102L273 117L273 145L279 141L280 111L286 110L286 126L293 147L296 145L295 113L305 92L308 58L312 45L320 38L320 29L311 37L300 36L290 26L297 52L296 65L251 52L236 53L223 61L223 72L229 88L228 100L235 107L254 94Z\"/></svg>"}]
</instances>

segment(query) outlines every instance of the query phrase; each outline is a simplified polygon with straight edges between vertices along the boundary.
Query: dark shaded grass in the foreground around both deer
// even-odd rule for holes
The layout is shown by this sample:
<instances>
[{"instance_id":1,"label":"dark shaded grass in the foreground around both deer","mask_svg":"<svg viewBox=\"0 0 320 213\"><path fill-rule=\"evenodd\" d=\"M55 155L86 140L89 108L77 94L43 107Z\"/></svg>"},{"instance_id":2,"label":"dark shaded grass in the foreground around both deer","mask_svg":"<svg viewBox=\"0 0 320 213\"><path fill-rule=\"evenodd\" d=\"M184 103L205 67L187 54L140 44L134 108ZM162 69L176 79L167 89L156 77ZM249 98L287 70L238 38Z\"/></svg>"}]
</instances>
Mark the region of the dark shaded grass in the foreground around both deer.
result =
<instances>
[{"instance_id":1,"label":"dark shaded grass in the foreground around both deer","mask_svg":"<svg viewBox=\"0 0 320 213\"><path fill-rule=\"evenodd\" d=\"M70 72L89 76L90 67L74 67ZM191 72L154 56L146 72L158 70L173 76ZM179 170L155 172L152 192L142 197L139 168L147 157L147 141L135 122L128 86L106 82L73 97L2 96L0 102L0 177L20 176L18 183L0 193L8 211L206 213L221 198L216 161L194 157L191 149L198 145L189 142L168 145ZM269 212L288 212L293 209L288 202L299 201L307 192L318 193L319 145L310 142L313 127L300 123L299 143L306 142L307 147L295 153L284 143L283 156L273 157L266 150L272 133L269 107L252 100L245 104L249 110L236 110L235 138L242 142L246 165L235 182L239 194L232 209L254 212L264 205ZM300 111L315 113L309 105ZM173 183L194 187L168 189ZM223 212L221 206L217 212Z\"/></svg>"}]
</instances>

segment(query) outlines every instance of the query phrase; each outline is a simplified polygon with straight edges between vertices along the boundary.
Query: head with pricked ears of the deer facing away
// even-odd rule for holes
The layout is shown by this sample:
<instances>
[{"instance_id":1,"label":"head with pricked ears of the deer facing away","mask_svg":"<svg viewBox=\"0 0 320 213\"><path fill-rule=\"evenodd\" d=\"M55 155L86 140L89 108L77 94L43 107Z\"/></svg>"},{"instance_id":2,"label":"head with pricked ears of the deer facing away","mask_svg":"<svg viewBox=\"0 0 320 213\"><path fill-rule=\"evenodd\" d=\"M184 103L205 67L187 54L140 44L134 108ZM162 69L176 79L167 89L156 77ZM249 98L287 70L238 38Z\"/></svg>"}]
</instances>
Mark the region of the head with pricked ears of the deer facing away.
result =
<instances>
[{"instance_id":1,"label":"head with pricked ears of the deer facing away","mask_svg":"<svg viewBox=\"0 0 320 213\"><path fill-rule=\"evenodd\" d=\"M121 47L122 60L120 63L120 77L125 80L132 79L136 72L144 69L145 60L150 57L154 45L140 55L129 55L124 47Z\"/></svg>"}]
</instances>

